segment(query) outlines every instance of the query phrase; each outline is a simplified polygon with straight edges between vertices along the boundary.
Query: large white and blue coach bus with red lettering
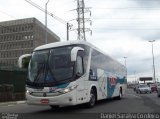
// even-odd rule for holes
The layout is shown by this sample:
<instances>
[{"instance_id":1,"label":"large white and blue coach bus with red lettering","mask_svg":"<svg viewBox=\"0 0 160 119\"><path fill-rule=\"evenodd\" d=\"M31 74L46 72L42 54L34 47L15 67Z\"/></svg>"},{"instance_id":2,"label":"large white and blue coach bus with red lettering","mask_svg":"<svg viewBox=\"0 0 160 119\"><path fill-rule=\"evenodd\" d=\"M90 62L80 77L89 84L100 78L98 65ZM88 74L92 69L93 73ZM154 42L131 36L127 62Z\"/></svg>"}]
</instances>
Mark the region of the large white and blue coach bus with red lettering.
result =
<instances>
[{"instance_id":1,"label":"large white and blue coach bus with red lettering","mask_svg":"<svg viewBox=\"0 0 160 119\"><path fill-rule=\"evenodd\" d=\"M121 99L126 89L125 66L85 41L39 46L19 57L19 67L27 66L26 59L28 104L93 107L98 100Z\"/></svg>"}]
</instances>

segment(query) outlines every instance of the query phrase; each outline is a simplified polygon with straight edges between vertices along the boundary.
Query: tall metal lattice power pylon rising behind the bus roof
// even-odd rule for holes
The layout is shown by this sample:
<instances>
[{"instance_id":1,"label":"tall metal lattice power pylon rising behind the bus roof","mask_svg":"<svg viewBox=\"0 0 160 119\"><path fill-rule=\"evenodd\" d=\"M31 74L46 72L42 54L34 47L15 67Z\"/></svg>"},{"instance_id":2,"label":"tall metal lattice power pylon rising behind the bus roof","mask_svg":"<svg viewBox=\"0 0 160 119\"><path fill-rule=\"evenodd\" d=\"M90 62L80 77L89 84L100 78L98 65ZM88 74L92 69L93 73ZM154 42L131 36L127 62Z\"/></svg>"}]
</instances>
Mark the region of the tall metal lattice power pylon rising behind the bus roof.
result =
<instances>
[{"instance_id":1,"label":"tall metal lattice power pylon rising behind the bus roof","mask_svg":"<svg viewBox=\"0 0 160 119\"><path fill-rule=\"evenodd\" d=\"M90 16L91 16L91 11L89 10L89 8L85 8L85 4L84 4L84 0L77 0L77 23L78 23L78 40L84 40L86 41L86 35L85 32L86 31L91 31L89 28L85 28L85 21L90 21L90 19L86 19L84 16L84 13L86 12L90 12Z\"/></svg>"}]
</instances>

